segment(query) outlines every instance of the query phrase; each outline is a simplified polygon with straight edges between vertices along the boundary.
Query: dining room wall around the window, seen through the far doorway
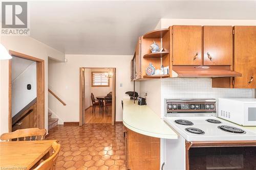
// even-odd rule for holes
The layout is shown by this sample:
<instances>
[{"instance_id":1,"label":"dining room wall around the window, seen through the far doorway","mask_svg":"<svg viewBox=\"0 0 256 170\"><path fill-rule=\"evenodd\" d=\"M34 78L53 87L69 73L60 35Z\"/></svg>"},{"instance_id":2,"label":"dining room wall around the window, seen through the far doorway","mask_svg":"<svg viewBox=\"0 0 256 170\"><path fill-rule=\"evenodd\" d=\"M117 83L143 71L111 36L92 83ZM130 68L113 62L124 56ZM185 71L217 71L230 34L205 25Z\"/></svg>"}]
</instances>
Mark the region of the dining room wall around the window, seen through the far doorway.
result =
<instances>
[{"instance_id":1,"label":"dining room wall around the window, seen through the far doorway","mask_svg":"<svg viewBox=\"0 0 256 170\"><path fill-rule=\"evenodd\" d=\"M113 72L112 68L106 69L106 68L92 68L92 72ZM94 94L95 98L96 96L99 95L104 95L108 94L109 92L113 91L113 78L110 78L110 86L109 87L91 87L91 92ZM91 101L92 105L92 101Z\"/></svg>"}]
</instances>

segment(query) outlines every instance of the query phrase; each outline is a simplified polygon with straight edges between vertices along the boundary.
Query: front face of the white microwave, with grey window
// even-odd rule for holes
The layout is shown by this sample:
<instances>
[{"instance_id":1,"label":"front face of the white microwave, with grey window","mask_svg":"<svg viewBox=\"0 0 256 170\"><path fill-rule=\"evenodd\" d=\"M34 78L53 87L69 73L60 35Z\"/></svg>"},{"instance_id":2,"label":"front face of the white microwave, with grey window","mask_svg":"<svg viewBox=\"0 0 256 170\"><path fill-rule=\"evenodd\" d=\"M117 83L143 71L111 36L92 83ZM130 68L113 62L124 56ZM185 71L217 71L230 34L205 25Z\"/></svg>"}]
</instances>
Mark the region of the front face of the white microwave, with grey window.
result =
<instances>
[{"instance_id":1,"label":"front face of the white microwave, with grey window","mask_svg":"<svg viewBox=\"0 0 256 170\"><path fill-rule=\"evenodd\" d=\"M245 104L244 126L256 126L256 104Z\"/></svg>"}]
</instances>

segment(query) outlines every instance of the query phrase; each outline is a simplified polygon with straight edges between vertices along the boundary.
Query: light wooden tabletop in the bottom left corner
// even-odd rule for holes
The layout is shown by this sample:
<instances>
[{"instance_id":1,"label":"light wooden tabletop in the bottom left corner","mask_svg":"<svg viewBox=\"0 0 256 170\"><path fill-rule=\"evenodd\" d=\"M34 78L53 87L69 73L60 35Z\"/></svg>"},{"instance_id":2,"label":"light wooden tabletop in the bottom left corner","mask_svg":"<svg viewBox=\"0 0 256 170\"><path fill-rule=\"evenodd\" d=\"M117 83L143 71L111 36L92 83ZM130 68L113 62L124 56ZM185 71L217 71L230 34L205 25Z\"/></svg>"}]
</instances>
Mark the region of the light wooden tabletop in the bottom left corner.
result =
<instances>
[{"instance_id":1,"label":"light wooden tabletop in the bottom left corner","mask_svg":"<svg viewBox=\"0 0 256 170\"><path fill-rule=\"evenodd\" d=\"M57 140L0 142L0 169L31 169Z\"/></svg>"}]
</instances>

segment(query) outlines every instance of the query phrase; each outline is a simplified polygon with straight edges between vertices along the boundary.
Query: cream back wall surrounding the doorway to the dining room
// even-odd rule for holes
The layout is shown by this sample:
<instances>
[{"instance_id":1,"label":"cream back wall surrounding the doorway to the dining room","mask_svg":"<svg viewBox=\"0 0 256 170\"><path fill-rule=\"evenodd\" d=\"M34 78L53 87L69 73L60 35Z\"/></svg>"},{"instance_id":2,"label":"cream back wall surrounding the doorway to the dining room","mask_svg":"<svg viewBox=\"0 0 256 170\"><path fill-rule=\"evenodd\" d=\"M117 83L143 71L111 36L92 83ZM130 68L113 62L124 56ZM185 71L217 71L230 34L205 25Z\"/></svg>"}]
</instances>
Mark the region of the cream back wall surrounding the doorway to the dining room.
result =
<instances>
[{"instance_id":1,"label":"cream back wall surrounding the doorway to the dining room","mask_svg":"<svg viewBox=\"0 0 256 170\"><path fill-rule=\"evenodd\" d=\"M49 85L67 106L60 104L49 94L49 108L64 122L79 121L79 67L116 68L116 121L122 120L121 100L129 98L126 91L133 90L130 81L130 63L133 56L66 55L68 62L49 60ZM122 87L120 87L122 83ZM136 90L139 82L136 82Z\"/></svg>"}]
</instances>

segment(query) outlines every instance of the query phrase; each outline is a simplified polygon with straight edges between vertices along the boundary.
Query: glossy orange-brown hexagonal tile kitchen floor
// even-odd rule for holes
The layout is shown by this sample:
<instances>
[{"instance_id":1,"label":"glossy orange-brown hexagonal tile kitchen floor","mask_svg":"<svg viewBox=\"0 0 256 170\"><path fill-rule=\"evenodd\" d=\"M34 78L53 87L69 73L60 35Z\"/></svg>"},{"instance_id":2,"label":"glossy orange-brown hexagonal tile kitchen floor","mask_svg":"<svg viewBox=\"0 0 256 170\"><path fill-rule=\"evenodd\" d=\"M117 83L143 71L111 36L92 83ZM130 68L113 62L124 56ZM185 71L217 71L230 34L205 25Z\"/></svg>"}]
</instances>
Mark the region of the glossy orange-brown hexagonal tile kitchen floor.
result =
<instances>
[{"instance_id":1,"label":"glossy orange-brown hexagonal tile kitchen floor","mask_svg":"<svg viewBox=\"0 0 256 170\"><path fill-rule=\"evenodd\" d=\"M57 139L61 144L56 170L125 169L122 124L58 125L49 131L47 139Z\"/></svg>"}]
</instances>

